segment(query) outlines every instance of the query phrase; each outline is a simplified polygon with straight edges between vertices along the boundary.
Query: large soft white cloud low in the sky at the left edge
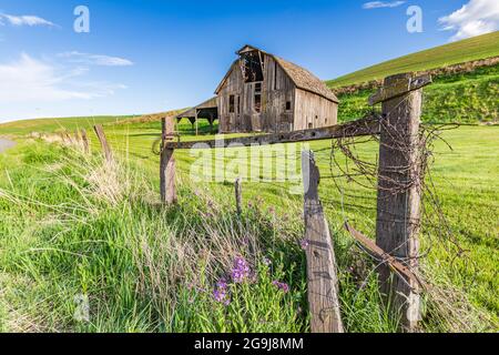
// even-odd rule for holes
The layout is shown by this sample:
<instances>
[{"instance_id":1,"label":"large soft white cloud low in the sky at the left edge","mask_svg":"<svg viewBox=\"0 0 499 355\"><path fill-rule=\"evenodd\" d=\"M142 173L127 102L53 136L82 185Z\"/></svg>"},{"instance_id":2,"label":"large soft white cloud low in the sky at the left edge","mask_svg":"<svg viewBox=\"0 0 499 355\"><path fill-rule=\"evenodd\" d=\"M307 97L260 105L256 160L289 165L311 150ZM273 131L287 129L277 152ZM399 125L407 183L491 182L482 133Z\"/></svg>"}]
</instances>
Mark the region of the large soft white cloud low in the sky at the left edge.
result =
<instances>
[{"instance_id":1,"label":"large soft white cloud low in the sky at the left edge","mask_svg":"<svg viewBox=\"0 0 499 355\"><path fill-rule=\"evenodd\" d=\"M23 53L12 63L0 63L0 103L58 102L90 100L114 94L124 85L85 82L85 68L58 70ZM3 104L0 104L2 106Z\"/></svg>"}]
</instances>

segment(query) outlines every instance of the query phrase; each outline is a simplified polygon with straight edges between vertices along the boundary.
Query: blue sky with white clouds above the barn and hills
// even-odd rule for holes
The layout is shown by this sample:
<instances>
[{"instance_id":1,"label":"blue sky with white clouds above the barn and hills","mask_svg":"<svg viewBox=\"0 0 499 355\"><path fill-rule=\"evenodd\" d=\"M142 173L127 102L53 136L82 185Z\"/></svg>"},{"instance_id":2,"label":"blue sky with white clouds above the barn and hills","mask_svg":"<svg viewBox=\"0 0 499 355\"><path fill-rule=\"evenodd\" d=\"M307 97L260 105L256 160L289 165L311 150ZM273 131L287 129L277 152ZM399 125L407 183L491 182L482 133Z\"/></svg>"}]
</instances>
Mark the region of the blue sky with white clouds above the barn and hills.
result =
<instances>
[{"instance_id":1,"label":"blue sky with white clouds above the barn and hills","mask_svg":"<svg viewBox=\"0 0 499 355\"><path fill-rule=\"evenodd\" d=\"M0 0L0 122L196 104L246 43L326 80L498 29L497 0L366 2ZM82 4L90 33L73 30ZM406 30L409 6L421 33Z\"/></svg>"}]
</instances>

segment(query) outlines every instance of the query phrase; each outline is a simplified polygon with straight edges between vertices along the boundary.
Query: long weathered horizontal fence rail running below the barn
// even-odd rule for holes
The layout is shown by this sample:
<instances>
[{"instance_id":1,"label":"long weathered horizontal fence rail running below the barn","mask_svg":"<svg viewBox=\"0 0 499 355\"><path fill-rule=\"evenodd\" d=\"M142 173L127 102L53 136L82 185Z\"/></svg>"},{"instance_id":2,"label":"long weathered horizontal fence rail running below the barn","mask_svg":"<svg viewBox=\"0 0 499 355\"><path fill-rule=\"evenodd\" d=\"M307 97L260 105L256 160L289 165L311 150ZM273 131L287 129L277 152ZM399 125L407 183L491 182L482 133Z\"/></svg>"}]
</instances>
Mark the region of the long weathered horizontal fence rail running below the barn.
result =
<instances>
[{"instance_id":1,"label":"long weathered horizontal fence rail running below the barn","mask_svg":"<svg viewBox=\"0 0 499 355\"><path fill-rule=\"evenodd\" d=\"M350 138L350 136L363 136L374 134L379 134L379 120L360 119L344 124L314 130L261 134L252 136L233 138L226 140L170 142L166 143L166 146L172 149L212 149L212 148L228 148L231 144L235 143L243 144L245 146L251 146L251 145L266 145L277 143L319 141L336 138Z\"/></svg>"}]
</instances>

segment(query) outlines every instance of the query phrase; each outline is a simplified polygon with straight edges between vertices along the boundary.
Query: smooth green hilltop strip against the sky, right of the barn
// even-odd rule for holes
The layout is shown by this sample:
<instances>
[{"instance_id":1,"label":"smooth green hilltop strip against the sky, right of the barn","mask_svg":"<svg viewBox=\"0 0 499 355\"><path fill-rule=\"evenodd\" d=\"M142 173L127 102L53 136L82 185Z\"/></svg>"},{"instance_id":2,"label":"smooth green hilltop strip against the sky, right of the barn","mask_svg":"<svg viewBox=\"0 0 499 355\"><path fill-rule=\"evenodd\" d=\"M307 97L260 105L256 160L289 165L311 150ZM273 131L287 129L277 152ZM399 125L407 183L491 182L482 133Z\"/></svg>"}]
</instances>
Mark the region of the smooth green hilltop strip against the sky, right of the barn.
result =
<instances>
[{"instance_id":1,"label":"smooth green hilltop strip against the sky, right of the barn","mask_svg":"<svg viewBox=\"0 0 499 355\"><path fill-rule=\"evenodd\" d=\"M408 54L327 81L330 88L379 80L393 74L425 71L499 55L499 31Z\"/></svg>"}]
</instances>

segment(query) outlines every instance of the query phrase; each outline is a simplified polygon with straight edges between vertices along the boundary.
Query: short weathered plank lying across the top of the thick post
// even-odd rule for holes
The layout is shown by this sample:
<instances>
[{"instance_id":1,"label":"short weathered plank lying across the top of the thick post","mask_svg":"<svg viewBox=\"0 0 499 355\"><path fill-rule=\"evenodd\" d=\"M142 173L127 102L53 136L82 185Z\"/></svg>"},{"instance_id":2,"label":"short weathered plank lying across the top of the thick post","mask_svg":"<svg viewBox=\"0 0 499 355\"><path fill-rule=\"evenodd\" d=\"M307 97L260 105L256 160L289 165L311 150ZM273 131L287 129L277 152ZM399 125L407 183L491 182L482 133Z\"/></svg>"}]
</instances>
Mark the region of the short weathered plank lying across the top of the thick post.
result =
<instances>
[{"instance_id":1,"label":"short weathered plank lying across the top of the thick post","mask_svg":"<svg viewBox=\"0 0 499 355\"><path fill-rule=\"evenodd\" d=\"M388 85L385 84L369 98L369 104L375 105L379 102L395 99L410 91L419 90L430 83L431 75L429 74L417 78L405 77L404 74L394 75Z\"/></svg>"}]
</instances>

